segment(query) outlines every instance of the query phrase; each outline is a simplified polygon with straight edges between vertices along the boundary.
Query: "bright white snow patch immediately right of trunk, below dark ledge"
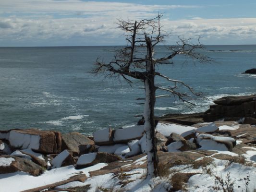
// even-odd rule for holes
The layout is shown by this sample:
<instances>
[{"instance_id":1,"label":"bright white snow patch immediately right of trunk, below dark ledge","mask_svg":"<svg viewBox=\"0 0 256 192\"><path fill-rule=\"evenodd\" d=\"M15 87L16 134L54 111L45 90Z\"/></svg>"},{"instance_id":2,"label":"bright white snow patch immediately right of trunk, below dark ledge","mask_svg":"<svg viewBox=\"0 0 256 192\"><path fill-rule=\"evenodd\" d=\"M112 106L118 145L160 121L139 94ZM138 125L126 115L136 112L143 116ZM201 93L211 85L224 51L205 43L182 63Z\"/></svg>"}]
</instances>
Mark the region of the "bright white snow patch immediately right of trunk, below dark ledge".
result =
<instances>
[{"instance_id":1,"label":"bright white snow patch immediately right of trunk, below dark ledge","mask_svg":"<svg viewBox=\"0 0 256 192\"><path fill-rule=\"evenodd\" d=\"M165 137L169 137L172 132L182 134L183 132L195 130L195 127L158 122L156 130L162 133Z\"/></svg>"}]
</instances>

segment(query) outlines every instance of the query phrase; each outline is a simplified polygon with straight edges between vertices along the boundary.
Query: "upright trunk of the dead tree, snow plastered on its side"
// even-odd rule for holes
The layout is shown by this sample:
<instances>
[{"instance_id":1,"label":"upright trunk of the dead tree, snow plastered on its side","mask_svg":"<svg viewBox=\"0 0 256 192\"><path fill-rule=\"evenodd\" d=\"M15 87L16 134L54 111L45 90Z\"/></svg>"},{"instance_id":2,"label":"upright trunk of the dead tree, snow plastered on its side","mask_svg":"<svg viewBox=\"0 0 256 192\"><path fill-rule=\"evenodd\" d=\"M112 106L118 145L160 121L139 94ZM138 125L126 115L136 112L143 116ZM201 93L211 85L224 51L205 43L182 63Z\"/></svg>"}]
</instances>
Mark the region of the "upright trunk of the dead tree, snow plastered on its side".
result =
<instances>
[{"instance_id":1,"label":"upright trunk of the dead tree, snow plastered on its side","mask_svg":"<svg viewBox=\"0 0 256 192\"><path fill-rule=\"evenodd\" d=\"M146 153L147 153L147 177L158 176L158 155L156 144L156 132L155 132L155 119L154 119L154 107L156 102L156 88L155 88L155 67L153 59L153 48L149 37L146 38L147 55L146 55L146 79L145 92L146 99L144 105L144 129L146 132Z\"/></svg>"}]
</instances>

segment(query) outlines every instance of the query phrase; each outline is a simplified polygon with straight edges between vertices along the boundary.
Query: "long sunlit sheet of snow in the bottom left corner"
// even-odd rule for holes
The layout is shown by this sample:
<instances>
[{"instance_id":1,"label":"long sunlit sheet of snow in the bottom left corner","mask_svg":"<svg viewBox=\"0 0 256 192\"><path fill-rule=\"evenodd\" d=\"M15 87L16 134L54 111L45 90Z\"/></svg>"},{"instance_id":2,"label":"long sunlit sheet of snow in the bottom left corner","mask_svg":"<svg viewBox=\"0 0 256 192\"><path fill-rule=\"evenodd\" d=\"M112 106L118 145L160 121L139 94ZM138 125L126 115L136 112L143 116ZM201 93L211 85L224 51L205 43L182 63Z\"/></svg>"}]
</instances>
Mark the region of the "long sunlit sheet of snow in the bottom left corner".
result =
<instances>
[{"instance_id":1,"label":"long sunlit sheet of snow in the bottom left corner","mask_svg":"<svg viewBox=\"0 0 256 192\"><path fill-rule=\"evenodd\" d=\"M75 169L74 166L53 168L49 171L45 171L38 177L34 177L28 173L20 171L15 173L0 174L0 192L20 192L36 187L41 187L61 180L67 180L70 177L79 174L80 172L89 177L90 171L98 170L105 166L107 166L107 164L98 163L88 168L79 169L79 171ZM15 184L13 184L13 182L15 182Z\"/></svg>"}]
</instances>

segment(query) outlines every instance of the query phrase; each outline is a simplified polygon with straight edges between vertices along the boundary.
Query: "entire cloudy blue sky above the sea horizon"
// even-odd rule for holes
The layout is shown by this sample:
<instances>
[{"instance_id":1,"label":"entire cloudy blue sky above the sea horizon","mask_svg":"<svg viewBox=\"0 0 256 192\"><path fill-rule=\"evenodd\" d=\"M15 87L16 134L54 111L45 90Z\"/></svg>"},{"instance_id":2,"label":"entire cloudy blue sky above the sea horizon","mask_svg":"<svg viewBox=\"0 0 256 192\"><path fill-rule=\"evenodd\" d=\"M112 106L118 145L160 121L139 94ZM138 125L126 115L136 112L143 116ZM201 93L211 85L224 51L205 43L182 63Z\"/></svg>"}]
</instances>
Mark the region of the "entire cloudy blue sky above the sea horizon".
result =
<instances>
[{"instance_id":1,"label":"entire cloudy blue sky above the sea horizon","mask_svg":"<svg viewBox=\"0 0 256 192\"><path fill-rule=\"evenodd\" d=\"M158 12L167 44L256 44L255 10L256 0L0 0L0 47L124 45L117 19Z\"/></svg>"}]
</instances>

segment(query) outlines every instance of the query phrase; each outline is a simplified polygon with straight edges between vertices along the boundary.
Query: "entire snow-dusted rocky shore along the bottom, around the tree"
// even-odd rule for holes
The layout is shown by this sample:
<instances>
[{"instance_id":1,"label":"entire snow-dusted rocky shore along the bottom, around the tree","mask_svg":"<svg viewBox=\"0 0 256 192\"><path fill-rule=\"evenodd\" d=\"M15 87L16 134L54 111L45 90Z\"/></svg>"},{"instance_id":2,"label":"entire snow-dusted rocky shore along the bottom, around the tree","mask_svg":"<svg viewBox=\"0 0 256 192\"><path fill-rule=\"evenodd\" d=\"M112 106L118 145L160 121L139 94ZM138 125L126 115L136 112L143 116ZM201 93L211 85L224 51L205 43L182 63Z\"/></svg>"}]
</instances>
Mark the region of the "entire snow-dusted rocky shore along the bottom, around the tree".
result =
<instances>
[{"instance_id":1,"label":"entire snow-dusted rocky shore along the bottom, around the tree","mask_svg":"<svg viewBox=\"0 0 256 192\"><path fill-rule=\"evenodd\" d=\"M143 125L98 130L93 136L37 129L0 131L0 191L109 192L110 183L116 192L136 191L136 187L196 191L203 189L196 188L198 177L212 178L207 187L214 185L216 177L205 169L216 162L211 172L239 168L244 177L249 172L253 187L256 95L222 97L214 103L205 113L156 118L160 177L158 183L150 181L153 188L152 184L141 185L146 171ZM35 182L24 183L29 180ZM235 187L241 188L243 182L237 181Z\"/></svg>"}]
</instances>

